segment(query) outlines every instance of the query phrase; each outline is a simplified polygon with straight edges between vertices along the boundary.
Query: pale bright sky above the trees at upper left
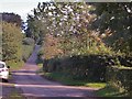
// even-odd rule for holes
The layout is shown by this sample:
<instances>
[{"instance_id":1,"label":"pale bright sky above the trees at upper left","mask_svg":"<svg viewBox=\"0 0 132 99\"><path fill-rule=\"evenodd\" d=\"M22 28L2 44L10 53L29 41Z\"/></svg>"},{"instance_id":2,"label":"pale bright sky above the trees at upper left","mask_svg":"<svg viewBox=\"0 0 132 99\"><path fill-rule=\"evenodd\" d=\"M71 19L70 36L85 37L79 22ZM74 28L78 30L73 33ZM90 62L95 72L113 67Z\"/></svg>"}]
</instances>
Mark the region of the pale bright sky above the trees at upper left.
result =
<instances>
[{"instance_id":1,"label":"pale bright sky above the trees at upper left","mask_svg":"<svg viewBox=\"0 0 132 99\"><path fill-rule=\"evenodd\" d=\"M0 0L0 12L13 12L21 15L23 21L26 21L28 13L37 7L38 2L48 0Z\"/></svg>"}]
</instances>

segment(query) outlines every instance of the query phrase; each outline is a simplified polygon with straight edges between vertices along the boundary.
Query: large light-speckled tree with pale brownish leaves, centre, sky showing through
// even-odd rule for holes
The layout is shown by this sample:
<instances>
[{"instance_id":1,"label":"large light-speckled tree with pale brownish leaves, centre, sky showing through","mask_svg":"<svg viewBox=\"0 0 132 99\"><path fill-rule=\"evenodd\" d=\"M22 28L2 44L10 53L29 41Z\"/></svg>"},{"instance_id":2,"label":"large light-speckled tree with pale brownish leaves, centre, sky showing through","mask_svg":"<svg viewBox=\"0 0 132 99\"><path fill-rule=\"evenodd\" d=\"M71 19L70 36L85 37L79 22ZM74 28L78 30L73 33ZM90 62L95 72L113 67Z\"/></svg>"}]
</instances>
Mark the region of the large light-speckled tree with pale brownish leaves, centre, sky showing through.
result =
<instances>
[{"instance_id":1,"label":"large light-speckled tree with pale brownish leaves, centre, sky showing through","mask_svg":"<svg viewBox=\"0 0 132 99\"><path fill-rule=\"evenodd\" d=\"M87 2L38 3L34 9L34 15L30 16L32 20L30 30L38 29L34 33L40 34L40 37L42 34L58 37L58 47L65 55L91 53L90 47L95 47L96 52L100 53L102 51L100 46L105 45L98 33L90 30L90 24L96 16L90 13L94 9Z\"/></svg>"}]
</instances>

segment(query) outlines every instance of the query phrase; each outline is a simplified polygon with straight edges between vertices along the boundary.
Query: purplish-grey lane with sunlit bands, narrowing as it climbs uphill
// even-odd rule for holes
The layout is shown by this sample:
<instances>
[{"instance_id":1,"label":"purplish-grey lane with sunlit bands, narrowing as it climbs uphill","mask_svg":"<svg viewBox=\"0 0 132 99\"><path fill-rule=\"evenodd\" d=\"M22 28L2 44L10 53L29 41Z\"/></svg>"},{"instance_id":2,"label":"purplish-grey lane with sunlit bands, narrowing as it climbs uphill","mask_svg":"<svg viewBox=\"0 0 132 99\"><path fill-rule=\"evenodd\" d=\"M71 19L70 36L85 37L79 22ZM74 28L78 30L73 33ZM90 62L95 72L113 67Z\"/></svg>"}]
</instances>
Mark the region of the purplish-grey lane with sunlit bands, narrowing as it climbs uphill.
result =
<instances>
[{"instance_id":1,"label":"purplish-grey lane with sunlit bands, narrowing as it climbs uphill","mask_svg":"<svg viewBox=\"0 0 132 99\"><path fill-rule=\"evenodd\" d=\"M38 69L35 64L40 46L34 52L22 69L13 72L13 79L16 88L21 88L22 95L28 99L47 99L47 97L94 97L92 88L64 86L59 82L50 81L36 74Z\"/></svg>"}]
</instances>

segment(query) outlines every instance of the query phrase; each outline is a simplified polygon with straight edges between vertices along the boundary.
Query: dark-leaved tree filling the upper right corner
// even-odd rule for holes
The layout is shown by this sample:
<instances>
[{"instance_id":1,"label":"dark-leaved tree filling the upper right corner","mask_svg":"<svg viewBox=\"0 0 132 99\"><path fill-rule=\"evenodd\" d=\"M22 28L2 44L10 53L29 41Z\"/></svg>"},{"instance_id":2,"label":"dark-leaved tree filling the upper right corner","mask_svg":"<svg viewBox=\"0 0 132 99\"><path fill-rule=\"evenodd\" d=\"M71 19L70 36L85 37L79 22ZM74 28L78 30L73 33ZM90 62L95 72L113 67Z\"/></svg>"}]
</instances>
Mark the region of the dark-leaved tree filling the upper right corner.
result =
<instances>
[{"instance_id":1,"label":"dark-leaved tree filling the upper right corner","mask_svg":"<svg viewBox=\"0 0 132 99\"><path fill-rule=\"evenodd\" d=\"M131 52L132 3L95 3L97 20L92 28L106 35L106 43L116 51Z\"/></svg>"}]
</instances>

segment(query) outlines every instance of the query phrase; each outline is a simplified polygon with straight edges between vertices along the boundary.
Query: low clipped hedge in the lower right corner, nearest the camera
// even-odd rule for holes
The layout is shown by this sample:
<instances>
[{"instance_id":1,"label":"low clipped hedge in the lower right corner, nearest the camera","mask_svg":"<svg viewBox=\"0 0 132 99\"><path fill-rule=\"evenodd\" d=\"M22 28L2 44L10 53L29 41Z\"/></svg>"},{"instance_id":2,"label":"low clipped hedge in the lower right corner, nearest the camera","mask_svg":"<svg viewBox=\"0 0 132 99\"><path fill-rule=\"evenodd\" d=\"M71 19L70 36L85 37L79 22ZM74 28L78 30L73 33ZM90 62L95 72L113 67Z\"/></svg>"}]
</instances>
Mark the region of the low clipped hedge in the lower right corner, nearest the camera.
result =
<instances>
[{"instance_id":1,"label":"low clipped hedge in the lower right corner, nearest the camera","mask_svg":"<svg viewBox=\"0 0 132 99\"><path fill-rule=\"evenodd\" d=\"M110 66L107 68L107 80L121 91L132 96L132 67Z\"/></svg>"}]
</instances>

